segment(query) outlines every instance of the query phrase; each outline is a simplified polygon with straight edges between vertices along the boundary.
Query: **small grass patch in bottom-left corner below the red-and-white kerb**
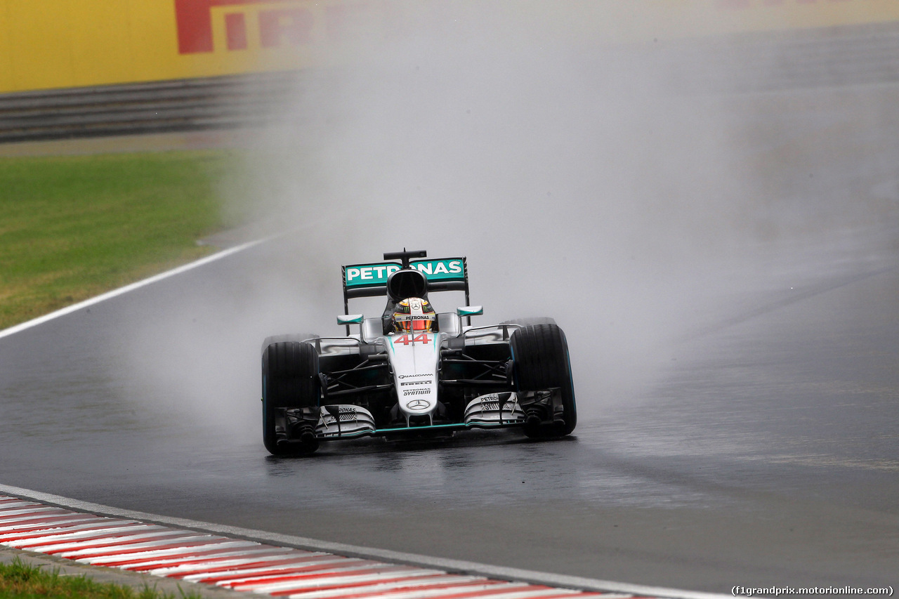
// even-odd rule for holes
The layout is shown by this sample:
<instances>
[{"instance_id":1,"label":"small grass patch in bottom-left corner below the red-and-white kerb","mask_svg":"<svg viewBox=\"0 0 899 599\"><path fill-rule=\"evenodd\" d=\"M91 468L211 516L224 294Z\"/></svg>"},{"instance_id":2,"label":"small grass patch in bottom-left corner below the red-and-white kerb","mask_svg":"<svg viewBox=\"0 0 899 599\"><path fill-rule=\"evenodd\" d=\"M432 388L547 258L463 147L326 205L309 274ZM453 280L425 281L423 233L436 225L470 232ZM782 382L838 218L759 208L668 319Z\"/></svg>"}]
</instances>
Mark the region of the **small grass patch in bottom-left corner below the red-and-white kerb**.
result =
<instances>
[{"instance_id":1,"label":"small grass patch in bottom-left corner below the red-and-white kerb","mask_svg":"<svg viewBox=\"0 0 899 599\"><path fill-rule=\"evenodd\" d=\"M85 575L63 576L58 568L30 566L21 559L0 564L0 599L200 599L200 594L173 595L145 585L135 589L99 583Z\"/></svg>"}]
</instances>

